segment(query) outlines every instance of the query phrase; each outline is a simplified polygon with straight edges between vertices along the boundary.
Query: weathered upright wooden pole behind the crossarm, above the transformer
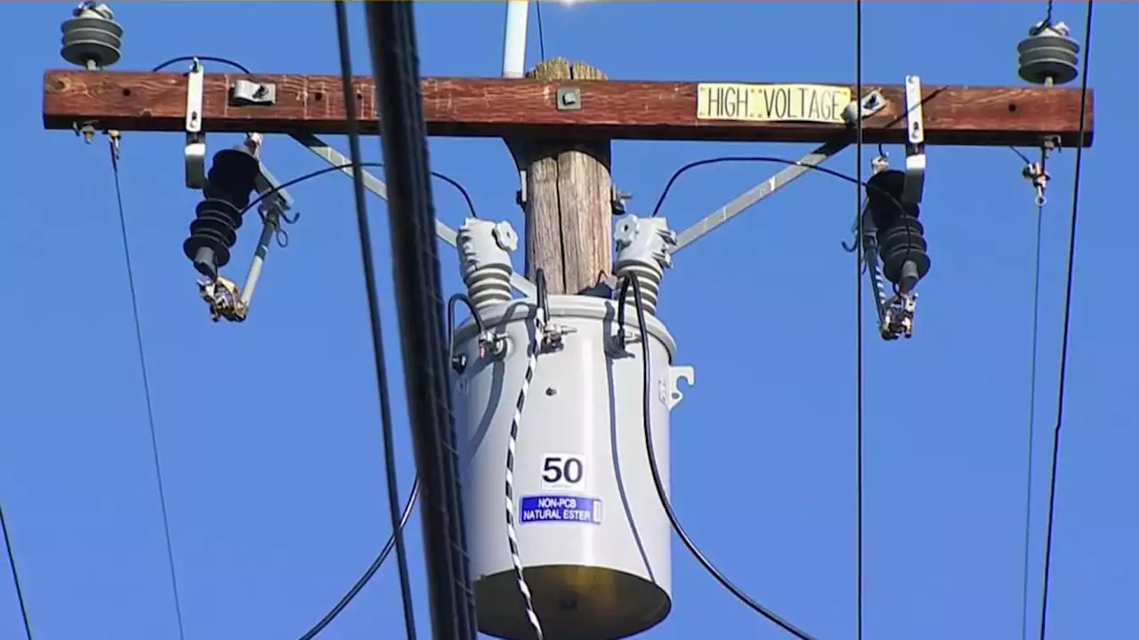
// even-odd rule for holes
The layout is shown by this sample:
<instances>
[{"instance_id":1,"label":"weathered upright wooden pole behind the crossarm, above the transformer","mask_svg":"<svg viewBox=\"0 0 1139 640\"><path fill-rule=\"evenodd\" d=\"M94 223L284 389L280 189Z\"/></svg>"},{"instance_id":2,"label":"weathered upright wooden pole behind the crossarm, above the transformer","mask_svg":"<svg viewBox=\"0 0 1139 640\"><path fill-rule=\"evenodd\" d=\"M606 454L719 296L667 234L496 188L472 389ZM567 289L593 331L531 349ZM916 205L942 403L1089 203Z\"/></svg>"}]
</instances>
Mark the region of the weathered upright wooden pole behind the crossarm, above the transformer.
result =
<instances>
[{"instance_id":1,"label":"weathered upright wooden pole behind the crossarm, above the transformer","mask_svg":"<svg viewBox=\"0 0 1139 640\"><path fill-rule=\"evenodd\" d=\"M570 81L555 95L559 112L580 110L573 81L605 80L585 63L564 58L539 63L526 77ZM551 294L592 287L612 266L609 141L507 140L524 182L519 204L526 212L526 278L541 269Z\"/></svg>"}]
</instances>

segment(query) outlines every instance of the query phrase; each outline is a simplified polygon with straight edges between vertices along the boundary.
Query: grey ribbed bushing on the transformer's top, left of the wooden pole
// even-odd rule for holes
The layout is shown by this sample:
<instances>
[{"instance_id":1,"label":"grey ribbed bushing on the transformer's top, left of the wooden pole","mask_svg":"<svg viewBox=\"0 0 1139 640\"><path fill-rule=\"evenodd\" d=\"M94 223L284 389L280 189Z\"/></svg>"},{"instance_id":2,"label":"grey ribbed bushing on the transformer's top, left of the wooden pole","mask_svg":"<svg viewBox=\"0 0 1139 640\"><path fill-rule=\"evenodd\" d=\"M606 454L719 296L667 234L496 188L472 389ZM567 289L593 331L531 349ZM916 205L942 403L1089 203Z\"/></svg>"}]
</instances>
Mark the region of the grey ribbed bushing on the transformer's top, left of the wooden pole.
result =
<instances>
[{"instance_id":1,"label":"grey ribbed bushing on the transformer's top, left of the wooden pole","mask_svg":"<svg viewBox=\"0 0 1139 640\"><path fill-rule=\"evenodd\" d=\"M456 238L459 273L475 309L501 304L514 297L510 252L518 248L518 235L509 222L468 218Z\"/></svg>"}]
</instances>

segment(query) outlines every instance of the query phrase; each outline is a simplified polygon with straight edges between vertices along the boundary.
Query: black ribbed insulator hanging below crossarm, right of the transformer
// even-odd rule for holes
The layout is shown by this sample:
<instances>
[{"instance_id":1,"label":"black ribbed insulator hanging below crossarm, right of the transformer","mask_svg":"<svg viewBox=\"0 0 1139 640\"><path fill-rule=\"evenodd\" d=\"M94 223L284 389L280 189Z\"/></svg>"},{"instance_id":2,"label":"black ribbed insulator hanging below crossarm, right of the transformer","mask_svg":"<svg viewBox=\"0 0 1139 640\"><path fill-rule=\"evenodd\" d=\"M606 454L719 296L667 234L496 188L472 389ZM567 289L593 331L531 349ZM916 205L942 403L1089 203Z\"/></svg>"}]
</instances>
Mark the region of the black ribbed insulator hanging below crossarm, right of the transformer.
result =
<instances>
[{"instance_id":1,"label":"black ribbed insulator hanging below crossarm, right of the transformer","mask_svg":"<svg viewBox=\"0 0 1139 640\"><path fill-rule=\"evenodd\" d=\"M867 180L870 215L877 229L882 273L909 292L929 272L925 228L918 222L920 208L901 202L906 173L886 170Z\"/></svg>"}]
</instances>

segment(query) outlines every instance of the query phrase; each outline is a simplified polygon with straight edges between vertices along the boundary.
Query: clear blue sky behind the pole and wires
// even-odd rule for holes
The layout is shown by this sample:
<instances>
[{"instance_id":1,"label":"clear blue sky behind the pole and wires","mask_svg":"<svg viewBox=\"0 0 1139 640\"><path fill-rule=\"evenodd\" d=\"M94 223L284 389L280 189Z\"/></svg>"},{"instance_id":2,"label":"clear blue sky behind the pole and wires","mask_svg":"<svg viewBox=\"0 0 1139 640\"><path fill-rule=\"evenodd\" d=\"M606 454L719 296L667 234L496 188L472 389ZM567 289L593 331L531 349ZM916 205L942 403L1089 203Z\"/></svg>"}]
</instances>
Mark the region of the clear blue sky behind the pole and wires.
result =
<instances>
[{"instance_id":1,"label":"clear blue sky behind the pole and wires","mask_svg":"<svg viewBox=\"0 0 1139 640\"><path fill-rule=\"evenodd\" d=\"M6 9L6 202L0 264L0 495L38 640L177 638L134 329L106 141L42 130L41 74L65 63L69 3ZM180 55L263 72L335 73L325 3L114 5L118 69ZM1083 32L1083 6L1057 17ZM612 77L850 82L845 3L614 3L544 8L546 50ZM1139 306L1131 81L1139 5L1097 7L1096 146L1084 157L1067 415L1049 638L1124 638L1139 592ZM865 79L1018 84L1016 43L1041 2L867 3ZM355 18L359 73L370 73ZM423 72L497 75L503 8L416 8ZM531 63L538 33L531 19ZM221 71L211 65L208 71ZM329 138L346 150L343 139ZM212 151L239 137L211 136ZM199 195L182 186L181 136L126 133L122 179L150 364L187 637L289 640L359 576L388 535L351 183L293 189L300 224L274 249L241 326L210 322L181 252ZM617 142L613 172L647 212L673 169L722 154L798 157L806 146ZM521 229L499 140L431 143L484 218ZM379 143L366 141L369 158ZM869 162L871 149L867 149ZM899 149L893 149L899 157ZM280 178L323 166L267 141ZM1039 604L1048 444L1055 420L1072 161L1051 164L1044 221L1032 606ZM830 166L853 172L854 153ZM874 640L1019 637L1035 211L1008 150L934 148L923 221L933 269L917 335L884 344L866 318L866 629ZM705 167L664 207L682 229L771 167ZM439 216L462 200L437 186ZM387 229L370 203L390 368L399 370ZM804 178L682 253L661 315L697 385L673 413L673 500L691 535L754 597L823 640L854 633L854 266L847 183ZM230 273L244 272L255 225ZM517 262L521 265L521 257ZM443 252L444 285L459 289ZM401 491L412 467L403 389L394 415ZM410 530L427 630L418 518ZM677 544L674 606L648 639L785 635L722 591ZM0 638L22 637L0 577ZM394 566L322 638L401 633ZM1035 623L1032 624L1035 627Z\"/></svg>"}]
</instances>

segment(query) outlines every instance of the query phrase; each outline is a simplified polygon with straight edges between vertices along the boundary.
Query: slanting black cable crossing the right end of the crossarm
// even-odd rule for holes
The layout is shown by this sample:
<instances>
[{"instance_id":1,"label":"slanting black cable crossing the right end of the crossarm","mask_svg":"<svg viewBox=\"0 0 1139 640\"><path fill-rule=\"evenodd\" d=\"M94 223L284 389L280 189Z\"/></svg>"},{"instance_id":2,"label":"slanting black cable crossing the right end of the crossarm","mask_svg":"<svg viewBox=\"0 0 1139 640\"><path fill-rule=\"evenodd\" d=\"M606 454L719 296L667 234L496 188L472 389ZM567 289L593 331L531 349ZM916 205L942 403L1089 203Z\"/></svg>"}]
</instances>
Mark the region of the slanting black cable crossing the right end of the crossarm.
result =
<instances>
[{"instance_id":1,"label":"slanting black cable crossing the right end of the crossarm","mask_svg":"<svg viewBox=\"0 0 1139 640\"><path fill-rule=\"evenodd\" d=\"M1044 640L1048 625L1048 581L1052 567L1052 523L1056 515L1056 470L1059 461L1060 427L1064 425L1064 391L1067 380L1068 329L1072 321L1072 274L1075 271L1075 232L1080 214L1080 170L1083 161L1083 145L1088 134L1088 75L1091 59L1091 18L1093 0L1088 0L1088 13L1083 30L1083 77L1080 81L1080 137L1075 148L1075 171L1072 178L1072 222L1068 228L1067 274L1064 285L1064 329L1060 333L1060 371L1056 399L1056 428L1052 430L1051 463L1048 474L1048 518L1044 525L1044 576L1040 597L1040 640Z\"/></svg>"}]
</instances>

